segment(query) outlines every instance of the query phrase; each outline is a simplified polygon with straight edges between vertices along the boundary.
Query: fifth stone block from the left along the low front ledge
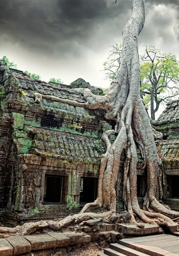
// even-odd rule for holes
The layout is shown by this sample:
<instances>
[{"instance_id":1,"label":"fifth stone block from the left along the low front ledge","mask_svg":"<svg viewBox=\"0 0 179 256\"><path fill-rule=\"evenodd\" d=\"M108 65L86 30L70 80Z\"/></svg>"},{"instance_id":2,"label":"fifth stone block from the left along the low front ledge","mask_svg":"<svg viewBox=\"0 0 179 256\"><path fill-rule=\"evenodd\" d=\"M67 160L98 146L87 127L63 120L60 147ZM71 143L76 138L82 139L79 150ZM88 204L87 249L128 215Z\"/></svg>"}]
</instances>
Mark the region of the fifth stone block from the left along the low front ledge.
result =
<instances>
[{"instance_id":1,"label":"fifth stone block from the left along the low front ledge","mask_svg":"<svg viewBox=\"0 0 179 256\"><path fill-rule=\"evenodd\" d=\"M70 238L70 245L91 242L91 236L86 235L85 233L64 232L63 234L64 236L68 236Z\"/></svg>"}]
</instances>

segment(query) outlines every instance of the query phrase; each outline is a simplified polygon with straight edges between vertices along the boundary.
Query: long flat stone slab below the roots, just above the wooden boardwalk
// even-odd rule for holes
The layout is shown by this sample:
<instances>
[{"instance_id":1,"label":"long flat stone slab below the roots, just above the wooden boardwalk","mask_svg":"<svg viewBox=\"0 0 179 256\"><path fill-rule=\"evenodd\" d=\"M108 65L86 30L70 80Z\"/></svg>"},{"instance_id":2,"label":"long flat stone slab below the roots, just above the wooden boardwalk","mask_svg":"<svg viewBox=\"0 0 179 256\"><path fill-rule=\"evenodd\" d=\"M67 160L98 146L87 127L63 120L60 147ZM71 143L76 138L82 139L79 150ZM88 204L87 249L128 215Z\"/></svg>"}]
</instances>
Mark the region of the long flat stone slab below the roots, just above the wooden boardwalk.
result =
<instances>
[{"instance_id":1,"label":"long flat stone slab below the roots, just above the wooden boardwalk","mask_svg":"<svg viewBox=\"0 0 179 256\"><path fill-rule=\"evenodd\" d=\"M144 235L153 234L159 232L159 226L154 224L144 223L144 228L139 228L135 224L115 224L116 229L119 232L128 235Z\"/></svg>"}]
</instances>

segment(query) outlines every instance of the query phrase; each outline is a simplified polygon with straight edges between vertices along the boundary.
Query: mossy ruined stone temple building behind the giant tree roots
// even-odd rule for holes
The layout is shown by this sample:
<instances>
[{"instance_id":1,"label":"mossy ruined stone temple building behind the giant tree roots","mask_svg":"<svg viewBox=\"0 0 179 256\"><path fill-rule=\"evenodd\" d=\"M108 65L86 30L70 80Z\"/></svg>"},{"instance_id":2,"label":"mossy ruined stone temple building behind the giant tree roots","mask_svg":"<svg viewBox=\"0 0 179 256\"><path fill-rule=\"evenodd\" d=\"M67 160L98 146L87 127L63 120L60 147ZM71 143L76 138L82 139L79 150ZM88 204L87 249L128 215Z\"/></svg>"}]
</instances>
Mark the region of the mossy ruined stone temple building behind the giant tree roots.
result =
<instances>
[{"instance_id":1,"label":"mossy ruined stone temple building behind the giant tree roots","mask_svg":"<svg viewBox=\"0 0 179 256\"><path fill-rule=\"evenodd\" d=\"M77 213L97 196L99 164L105 147L100 137L111 121L102 110L70 105L85 103L74 88L90 88L83 79L71 85L45 83L0 61L0 217L10 224L60 218ZM39 95L41 95L39 97ZM58 98L62 99L61 102ZM69 100L64 103L63 99ZM179 100L168 103L153 124L164 134L156 140L162 159L164 203L179 210ZM113 135L115 136L115 135ZM110 139L113 141L114 137ZM122 203L121 157L117 180L117 211ZM137 195L146 191L146 170L138 150Z\"/></svg>"}]
</instances>

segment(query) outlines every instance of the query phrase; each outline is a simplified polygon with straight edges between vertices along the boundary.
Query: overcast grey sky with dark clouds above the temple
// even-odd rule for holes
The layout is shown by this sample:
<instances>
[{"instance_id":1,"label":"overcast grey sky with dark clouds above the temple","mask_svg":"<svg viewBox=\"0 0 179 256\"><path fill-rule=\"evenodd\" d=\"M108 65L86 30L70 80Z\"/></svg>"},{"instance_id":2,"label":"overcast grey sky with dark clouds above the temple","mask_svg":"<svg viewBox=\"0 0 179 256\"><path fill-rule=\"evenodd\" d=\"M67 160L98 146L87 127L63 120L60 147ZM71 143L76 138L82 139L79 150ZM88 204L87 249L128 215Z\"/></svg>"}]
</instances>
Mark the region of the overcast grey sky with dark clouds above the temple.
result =
<instances>
[{"instance_id":1,"label":"overcast grey sky with dark clouds above the temple","mask_svg":"<svg viewBox=\"0 0 179 256\"><path fill-rule=\"evenodd\" d=\"M179 59L179 0L145 0L145 8L139 53L152 44ZM130 0L0 0L0 58L44 81L105 88L102 64L130 15Z\"/></svg>"}]
</instances>

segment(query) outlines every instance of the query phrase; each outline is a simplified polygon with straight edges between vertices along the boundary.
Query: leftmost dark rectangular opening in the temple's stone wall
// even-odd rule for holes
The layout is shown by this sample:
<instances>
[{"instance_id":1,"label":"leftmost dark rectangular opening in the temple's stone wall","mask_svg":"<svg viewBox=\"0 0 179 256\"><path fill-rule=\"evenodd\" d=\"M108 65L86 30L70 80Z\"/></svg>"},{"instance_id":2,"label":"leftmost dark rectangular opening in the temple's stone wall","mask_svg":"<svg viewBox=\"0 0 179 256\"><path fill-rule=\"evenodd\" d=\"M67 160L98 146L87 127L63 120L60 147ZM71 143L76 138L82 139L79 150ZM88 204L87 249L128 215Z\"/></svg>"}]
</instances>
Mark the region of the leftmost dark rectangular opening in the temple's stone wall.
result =
<instances>
[{"instance_id":1,"label":"leftmost dark rectangular opening in the temple's stone wall","mask_svg":"<svg viewBox=\"0 0 179 256\"><path fill-rule=\"evenodd\" d=\"M64 177L45 175L44 183L44 204L62 203Z\"/></svg>"}]
</instances>

